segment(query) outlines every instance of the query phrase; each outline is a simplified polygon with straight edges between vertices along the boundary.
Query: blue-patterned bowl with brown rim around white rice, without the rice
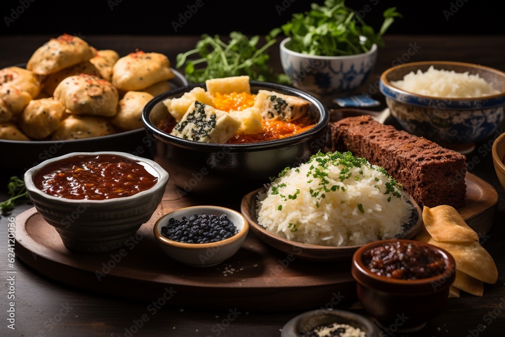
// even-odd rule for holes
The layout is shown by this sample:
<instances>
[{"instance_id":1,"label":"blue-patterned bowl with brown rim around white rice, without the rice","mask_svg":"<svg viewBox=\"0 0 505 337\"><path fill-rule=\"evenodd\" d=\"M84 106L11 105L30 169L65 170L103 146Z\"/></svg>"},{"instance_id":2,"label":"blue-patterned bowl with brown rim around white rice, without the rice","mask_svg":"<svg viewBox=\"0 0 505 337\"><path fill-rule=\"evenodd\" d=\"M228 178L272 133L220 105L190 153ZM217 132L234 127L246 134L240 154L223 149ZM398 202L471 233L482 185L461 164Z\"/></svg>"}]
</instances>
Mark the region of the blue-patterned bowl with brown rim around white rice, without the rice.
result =
<instances>
[{"instance_id":1,"label":"blue-patterned bowl with brown rim around white rice, without the rice","mask_svg":"<svg viewBox=\"0 0 505 337\"><path fill-rule=\"evenodd\" d=\"M425 72L430 66L438 70L478 74L499 93L477 98L439 98L408 92L391 84L412 71ZM464 154L474 149L475 142L495 133L504 117L505 72L478 64L449 61L406 63L383 72L379 88L391 115L406 131Z\"/></svg>"}]
</instances>

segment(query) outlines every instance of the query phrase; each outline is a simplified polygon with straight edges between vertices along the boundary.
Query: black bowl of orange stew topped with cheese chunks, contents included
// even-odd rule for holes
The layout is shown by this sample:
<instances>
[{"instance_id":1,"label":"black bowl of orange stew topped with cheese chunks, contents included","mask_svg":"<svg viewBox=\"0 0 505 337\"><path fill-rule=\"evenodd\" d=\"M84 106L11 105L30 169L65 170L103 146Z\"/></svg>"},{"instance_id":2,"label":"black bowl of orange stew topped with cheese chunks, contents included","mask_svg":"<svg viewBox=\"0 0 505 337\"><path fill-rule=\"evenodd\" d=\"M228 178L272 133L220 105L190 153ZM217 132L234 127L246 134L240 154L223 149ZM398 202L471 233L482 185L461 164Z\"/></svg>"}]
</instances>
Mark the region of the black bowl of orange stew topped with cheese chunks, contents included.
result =
<instances>
[{"instance_id":1,"label":"black bowl of orange stew topped with cheese chunks, contents included","mask_svg":"<svg viewBox=\"0 0 505 337\"><path fill-rule=\"evenodd\" d=\"M142 112L151 154L179 194L240 198L323 149L328 120L312 95L248 76L171 90Z\"/></svg>"}]
</instances>

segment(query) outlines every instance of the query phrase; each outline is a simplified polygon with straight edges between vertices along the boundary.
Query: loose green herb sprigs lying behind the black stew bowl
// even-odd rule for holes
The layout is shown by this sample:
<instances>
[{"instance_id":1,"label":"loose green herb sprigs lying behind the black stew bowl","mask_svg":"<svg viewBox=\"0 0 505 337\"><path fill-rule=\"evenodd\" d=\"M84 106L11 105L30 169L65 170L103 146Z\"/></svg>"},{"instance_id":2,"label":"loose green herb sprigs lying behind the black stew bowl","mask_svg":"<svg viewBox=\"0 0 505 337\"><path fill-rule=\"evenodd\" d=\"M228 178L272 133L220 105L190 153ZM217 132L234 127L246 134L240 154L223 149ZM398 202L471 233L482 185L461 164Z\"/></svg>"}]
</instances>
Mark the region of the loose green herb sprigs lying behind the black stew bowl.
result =
<instances>
[{"instance_id":1,"label":"loose green herb sprigs lying behind the black stew bowl","mask_svg":"<svg viewBox=\"0 0 505 337\"><path fill-rule=\"evenodd\" d=\"M219 35L201 35L195 49L177 55L177 68L184 66L184 73L192 83L205 82L211 78L247 75L251 80L287 84L286 74L278 74L268 65L270 56L267 50L281 32L276 28L268 34L266 43L259 47L260 36L250 39L237 31L230 33L229 41L221 40ZM196 56L196 59L190 57Z\"/></svg>"}]
</instances>

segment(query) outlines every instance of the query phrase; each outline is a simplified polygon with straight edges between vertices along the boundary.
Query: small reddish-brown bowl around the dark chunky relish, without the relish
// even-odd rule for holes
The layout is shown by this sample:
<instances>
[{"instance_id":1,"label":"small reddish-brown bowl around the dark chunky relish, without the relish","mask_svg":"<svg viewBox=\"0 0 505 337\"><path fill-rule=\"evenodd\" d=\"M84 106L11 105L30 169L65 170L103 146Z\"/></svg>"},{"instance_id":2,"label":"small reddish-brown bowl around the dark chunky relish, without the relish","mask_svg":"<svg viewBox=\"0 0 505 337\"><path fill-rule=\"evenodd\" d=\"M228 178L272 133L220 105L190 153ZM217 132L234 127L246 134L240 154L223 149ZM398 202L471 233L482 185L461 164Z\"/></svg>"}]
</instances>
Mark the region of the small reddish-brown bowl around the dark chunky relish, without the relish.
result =
<instances>
[{"instance_id":1,"label":"small reddish-brown bowl around the dark chunky relish, without the relish","mask_svg":"<svg viewBox=\"0 0 505 337\"><path fill-rule=\"evenodd\" d=\"M443 274L416 280L394 279L371 272L363 262L363 253L394 241L428 247L442 254ZM382 240L362 246L352 256L352 277L356 279L358 299L379 326L394 326L398 332L413 332L443 311L449 286L456 277L456 262L445 250L414 240Z\"/></svg>"}]
</instances>

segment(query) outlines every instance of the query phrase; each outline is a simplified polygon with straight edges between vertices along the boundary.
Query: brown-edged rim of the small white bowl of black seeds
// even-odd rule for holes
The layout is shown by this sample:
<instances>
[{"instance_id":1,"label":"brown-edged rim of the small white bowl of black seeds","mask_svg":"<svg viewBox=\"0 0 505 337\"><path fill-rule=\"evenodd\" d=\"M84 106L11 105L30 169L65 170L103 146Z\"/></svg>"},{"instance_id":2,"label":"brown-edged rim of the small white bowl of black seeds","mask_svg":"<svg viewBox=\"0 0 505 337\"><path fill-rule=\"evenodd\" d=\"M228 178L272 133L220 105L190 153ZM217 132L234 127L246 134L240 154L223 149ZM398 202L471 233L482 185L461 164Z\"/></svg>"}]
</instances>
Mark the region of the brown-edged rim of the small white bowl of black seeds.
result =
<instances>
[{"instance_id":1,"label":"brown-edged rim of the small white bowl of black seeds","mask_svg":"<svg viewBox=\"0 0 505 337\"><path fill-rule=\"evenodd\" d=\"M200 210L202 208L211 208L211 209L220 210L224 214L231 214L232 213L241 220L242 228L239 230L238 233L236 233L232 237L228 237L224 240L211 242L211 243L205 243L205 244L182 243L182 242L171 240L171 239L166 238L165 236L162 235L162 233L161 233L162 225L164 225L164 222L166 222L166 220L172 218L174 213L183 213L183 214L186 212L187 213L198 213L198 210ZM249 223L247 222L247 219L240 212L237 212L237 211L235 211L231 208L227 208L227 207L211 206L211 205L198 205L198 206L189 206L189 207L179 208L177 210L174 210L170 213L167 213L167 214L161 216L158 220L156 220L156 223L153 227L154 235L159 243L162 243L164 246L168 246L168 247L172 247L172 248L189 249L189 250L208 249L208 248L213 248L213 247L228 246L228 245L231 245L231 244L241 240L242 238L245 238L248 231L249 231Z\"/></svg>"}]
</instances>

